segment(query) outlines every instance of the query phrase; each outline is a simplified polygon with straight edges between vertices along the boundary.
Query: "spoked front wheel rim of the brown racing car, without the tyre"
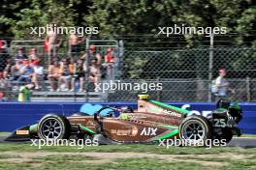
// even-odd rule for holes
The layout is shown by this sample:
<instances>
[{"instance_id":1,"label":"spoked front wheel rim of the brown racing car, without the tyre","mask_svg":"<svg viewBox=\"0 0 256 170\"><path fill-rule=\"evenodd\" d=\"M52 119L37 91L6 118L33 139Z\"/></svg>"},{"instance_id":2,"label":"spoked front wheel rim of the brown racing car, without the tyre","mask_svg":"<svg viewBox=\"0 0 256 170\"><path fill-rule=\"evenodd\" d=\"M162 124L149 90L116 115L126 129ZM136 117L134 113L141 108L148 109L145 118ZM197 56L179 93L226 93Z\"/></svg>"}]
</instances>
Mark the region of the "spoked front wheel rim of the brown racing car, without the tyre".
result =
<instances>
[{"instance_id":1,"label":"spoked front wheel rim of the brown racing car, without the tyre","mask_svg":"<svg viewBox=\"0 0 256 170\"><path fill-rule=\"evenodd\" d=\"M61 123L56 119L48 119L42 124L41 132L45 139L57 139L62 134Z\"/></svg>"}]
</instances>

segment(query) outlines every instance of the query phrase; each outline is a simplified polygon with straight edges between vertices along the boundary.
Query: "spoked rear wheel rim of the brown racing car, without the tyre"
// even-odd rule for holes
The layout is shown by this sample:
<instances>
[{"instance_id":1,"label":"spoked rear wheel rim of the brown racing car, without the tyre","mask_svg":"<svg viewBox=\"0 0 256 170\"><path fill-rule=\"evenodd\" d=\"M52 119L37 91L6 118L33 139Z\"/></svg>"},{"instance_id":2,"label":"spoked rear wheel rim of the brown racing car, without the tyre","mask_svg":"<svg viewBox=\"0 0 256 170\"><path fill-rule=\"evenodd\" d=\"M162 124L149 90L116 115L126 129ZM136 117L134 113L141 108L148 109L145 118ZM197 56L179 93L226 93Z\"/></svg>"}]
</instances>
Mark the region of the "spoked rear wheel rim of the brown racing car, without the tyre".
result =
<instances>
[{"instance_id":1,"label":"spoked rear wheel rim of the brown racing car, without the tyre","mask_svg":"<svg viewBox=\"0 0 256 170\"><path fill-rule=\"evenodd\" d=\"M182 138L189 141L203 140L206 136L205 126L197 121L191 120L183 125Z\"/></svg>"}]
</instances>

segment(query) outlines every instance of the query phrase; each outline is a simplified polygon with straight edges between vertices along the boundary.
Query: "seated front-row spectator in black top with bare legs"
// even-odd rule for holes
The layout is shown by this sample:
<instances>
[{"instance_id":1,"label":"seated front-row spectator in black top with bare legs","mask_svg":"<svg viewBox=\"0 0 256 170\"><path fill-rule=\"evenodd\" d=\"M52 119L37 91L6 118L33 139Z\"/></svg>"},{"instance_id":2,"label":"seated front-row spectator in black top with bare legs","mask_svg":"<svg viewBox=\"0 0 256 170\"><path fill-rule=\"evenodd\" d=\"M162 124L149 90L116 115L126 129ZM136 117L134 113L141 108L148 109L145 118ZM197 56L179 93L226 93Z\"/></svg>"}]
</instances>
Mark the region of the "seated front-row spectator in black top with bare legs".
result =
<instances>
[{"instance_id":1,"label":"seated front-row spectator in black top with bare legs","mask_svg":"<svg viewBox=\"0 0 256 170\"><path fill-rule=\"evenodd\" d=\"M76 81L80 81L80 92L83 91L83 85L84 85L84 76L85 76L85 70L83 67L82 60L78 60L78 63L76 65L76 71L74 74L74 77L72 78L72 91L75 90L75 83Z\"/></svg>"}]
</instances>

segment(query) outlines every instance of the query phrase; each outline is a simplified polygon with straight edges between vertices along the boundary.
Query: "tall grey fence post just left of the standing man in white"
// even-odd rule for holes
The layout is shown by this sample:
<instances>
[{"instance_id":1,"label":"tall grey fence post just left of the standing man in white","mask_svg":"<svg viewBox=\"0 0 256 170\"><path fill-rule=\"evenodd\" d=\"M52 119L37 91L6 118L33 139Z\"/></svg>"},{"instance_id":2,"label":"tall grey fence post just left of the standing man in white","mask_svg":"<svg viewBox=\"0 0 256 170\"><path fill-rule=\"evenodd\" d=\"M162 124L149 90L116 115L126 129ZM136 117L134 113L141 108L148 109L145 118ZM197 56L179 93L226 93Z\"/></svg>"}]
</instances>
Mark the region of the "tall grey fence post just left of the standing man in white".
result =
<instances>
[{"instance_id":1,"label":"tall grey fence post just left of the standing man in white","mask_svg":"<svg viewBox=\"0 0 256 170\"><path fill-rule=\"evenodd\" d=\"M213 33L209 36L209 53L208 53L208 102L211 101L211 80L213 66Z\"/></svg>"}]
</instances>

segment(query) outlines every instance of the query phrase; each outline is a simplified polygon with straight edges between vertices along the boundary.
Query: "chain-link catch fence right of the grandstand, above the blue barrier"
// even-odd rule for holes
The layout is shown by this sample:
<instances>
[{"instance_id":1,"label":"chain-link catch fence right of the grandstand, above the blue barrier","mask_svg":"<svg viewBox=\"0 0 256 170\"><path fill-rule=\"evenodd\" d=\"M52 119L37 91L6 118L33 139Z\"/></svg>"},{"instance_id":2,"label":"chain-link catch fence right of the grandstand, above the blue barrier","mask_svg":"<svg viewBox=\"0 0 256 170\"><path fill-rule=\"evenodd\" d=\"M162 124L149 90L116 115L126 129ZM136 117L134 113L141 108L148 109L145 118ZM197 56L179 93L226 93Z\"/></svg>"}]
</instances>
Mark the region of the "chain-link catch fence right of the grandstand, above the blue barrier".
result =
<instances>
[{"instance_id":1,"label":"chain-link catch fence right of the grandstand, above the blue barrier","mask_svg":"<svg viewBox=\"0 0 256 170\"><path fill-rule=\"evenodd\" d=\"M227 71L227 98L253 101L256 81L255 47L200 47L164 51L124 51L123 79L161 82L163 90L149 92L156 99L214 101L212 81L220 69ZM137 93L112 94L116 100L136 99ZM142 92L139 92L142 93ZM136 94L136 95L134 95ZM119 97L119 98L118 98ZM112 100L111 99L111 100Z\"/></svg>"}]
</instances>

